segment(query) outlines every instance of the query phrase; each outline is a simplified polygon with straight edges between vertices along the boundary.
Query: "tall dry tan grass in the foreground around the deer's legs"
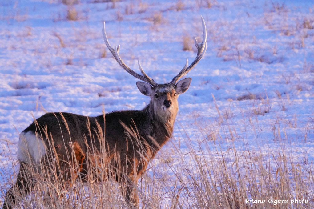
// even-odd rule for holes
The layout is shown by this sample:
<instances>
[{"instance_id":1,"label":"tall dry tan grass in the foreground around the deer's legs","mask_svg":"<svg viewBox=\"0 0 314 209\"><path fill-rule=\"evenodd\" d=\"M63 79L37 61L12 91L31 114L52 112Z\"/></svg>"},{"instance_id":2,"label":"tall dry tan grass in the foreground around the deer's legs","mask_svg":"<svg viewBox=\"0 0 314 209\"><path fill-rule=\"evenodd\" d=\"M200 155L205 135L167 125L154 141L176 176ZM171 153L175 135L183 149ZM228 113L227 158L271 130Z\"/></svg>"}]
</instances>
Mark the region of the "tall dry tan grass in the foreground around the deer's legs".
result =
<instances>
[{"instance_id":1,"label":"tall dry tan grass in the foreground around the deer's legs","mask_svg":"<svg viewBox=\"0 0 314 209\"><path fill-rule=\"evenodd\" d=\"M230 120L225 114L220 117ZM250 123L256 126L254 121ZM295 123L292 121L290 126L295 127ZM155 160L150 163L137 187L143 208L313 208L313 167L306 156L305 163L295 164L293 148L284 143L277 124L273 126L273 137L281 152L269 148L267 155L247 145L237 147L234 142L242 138L246 144L247 139L239 136L232 125L224 128L213 124L197 126L195 138L188 137L181 128L183 136L176 139L188 150L181 151L175 145L172 153L163 150L157 155L159 163ZM226 143L224 138L230 143L228 149L221 148L221 143ZM67 170L72 176L70 179L58 175L62 167L56 163L58 160L50 160L48 164L41 162L41 169L28 168L35 189L26 196L17 194L18 205L22 208L128 207L122 196L123 187L107 175L114 173L112 167L101 163L107 161L106 152L91 148L91 153L84 179L77 175L79 165L75 160ZM71 159L73 154L68 153ZM55 153L50 155L56 156ZM6 157L12 161L10 152ZM8 170L8 165L2 166L4 171ZM171 173L173 175L169 175ZM2 187L0 196L4 197L14 176L1 172L0 177L8 184ZM303 203L299 202L302 200Z\"/></svg>"}]
</instances>

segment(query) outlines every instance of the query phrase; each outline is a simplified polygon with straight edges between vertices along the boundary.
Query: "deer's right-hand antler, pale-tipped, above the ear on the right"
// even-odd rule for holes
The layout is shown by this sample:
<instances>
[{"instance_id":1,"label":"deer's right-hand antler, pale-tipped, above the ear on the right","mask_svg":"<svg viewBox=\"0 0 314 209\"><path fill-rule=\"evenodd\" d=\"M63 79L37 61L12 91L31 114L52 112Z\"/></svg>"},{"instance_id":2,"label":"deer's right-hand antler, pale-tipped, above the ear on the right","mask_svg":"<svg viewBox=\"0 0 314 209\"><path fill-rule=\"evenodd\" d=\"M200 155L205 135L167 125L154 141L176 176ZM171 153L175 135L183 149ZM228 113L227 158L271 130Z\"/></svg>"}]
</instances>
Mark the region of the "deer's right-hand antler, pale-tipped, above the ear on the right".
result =
<instances>
[{"instance_id":1,"label":"deer's right-hand antler, pale-tipped, above the ear on the right","mask_svg":"<svg viewBox=\"0 0 314 209\"><path fill-rule=\"evenodd\" d=\"M183 69L178 73L178 75L176 75L176 77L174 77L172 79L172 81L170 82L171 84L175 85L175 83L182 78L183 76L185 76L188 72L190 72L193 67L196 66L196 64L202 59L202 57L204 56L205 52L206 52L206 48L207 48L207 43L206 43L206 38L207 38L207 33L206 33L206 25L205 25L205 21L203 19L203 17L201 16L202 19L202 23L203 23L203 41L202 43L198 43L195 36L194 36L194 42L195 42L195 46L197 47L197 55L195 60L192 62L192 64L187 67L188 65L188 61L185 63L185 66L183 67Z\"/></svg>"}]
</instances>

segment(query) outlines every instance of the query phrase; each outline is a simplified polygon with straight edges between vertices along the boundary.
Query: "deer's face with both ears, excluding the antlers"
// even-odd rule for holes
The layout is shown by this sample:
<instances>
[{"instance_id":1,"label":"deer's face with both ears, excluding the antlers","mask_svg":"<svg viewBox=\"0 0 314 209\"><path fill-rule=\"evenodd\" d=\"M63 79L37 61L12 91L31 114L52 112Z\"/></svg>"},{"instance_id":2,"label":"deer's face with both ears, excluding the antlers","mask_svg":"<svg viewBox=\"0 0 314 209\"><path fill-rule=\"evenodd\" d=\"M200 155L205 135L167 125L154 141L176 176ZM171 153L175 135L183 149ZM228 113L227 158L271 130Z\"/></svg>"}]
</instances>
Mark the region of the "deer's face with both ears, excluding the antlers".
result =
<instances>
[{"instance_id":1,"label":"deer's face with both ears, excluding the antlers","mask_svg":"<svg viewBox=\"0 0 314 209\"><path fill-rule=\"evenodd\" d=\"M187 91L191 81L191 78L185 78L176 85L166 83L158 84L156 87L139 81L136 85L142 94L150 97L155 115L162 118L173 118L174 121L178 112L178 96Z\"/></svg>"}]
</instances>

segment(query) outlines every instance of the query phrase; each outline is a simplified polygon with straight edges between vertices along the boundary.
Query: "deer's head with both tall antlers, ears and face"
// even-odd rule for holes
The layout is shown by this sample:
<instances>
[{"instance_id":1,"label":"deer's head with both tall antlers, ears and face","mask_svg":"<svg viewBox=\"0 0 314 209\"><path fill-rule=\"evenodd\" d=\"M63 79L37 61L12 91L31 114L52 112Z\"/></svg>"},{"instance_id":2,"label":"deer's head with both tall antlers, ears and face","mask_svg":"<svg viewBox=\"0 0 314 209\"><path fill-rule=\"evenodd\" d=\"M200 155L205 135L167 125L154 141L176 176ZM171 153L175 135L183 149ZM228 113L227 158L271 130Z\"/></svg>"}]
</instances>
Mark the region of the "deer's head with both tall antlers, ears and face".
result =
<instances>
[{"instance_id":1,"label":"deer's head with both tall antlers, ears and face","mask_svg":"<svg viewBox=\"0 0 314 209\"><path fill-rule=\"evenodd\" d=\"M109 44L106 30L105 30L105 22L103 26L103 38L108 47L111 54L114 56L116 61L120 64L120 66L126 70L128 73L133 75L135 78L138 78L144 82L137 82L136 85L140 92L146 96L149 96L151 99L150 108L155 116L165 120L164 122L170 123L173 125L177 111L178 111L178 96L187 91L192 81L192 78L185 78L180 81L183 76L185 76L188 72L190 72L193 67L202 59L206 52L207 43L207 33L206 26L203 17L201 16L202 24L203 24L203 40L201 43L198 43L195 36L195 46L197 47L197 56L191 65L188 66L188 60L186 61L183 69L171 80L170 83L158 84L152 78L143 71L140 62L138 61L138 67L142 73L139 75L138 73L131 70L120 58L119 49L120 45L116 47L116 49L112 48Z\"/></svg>"}]
</instances>

